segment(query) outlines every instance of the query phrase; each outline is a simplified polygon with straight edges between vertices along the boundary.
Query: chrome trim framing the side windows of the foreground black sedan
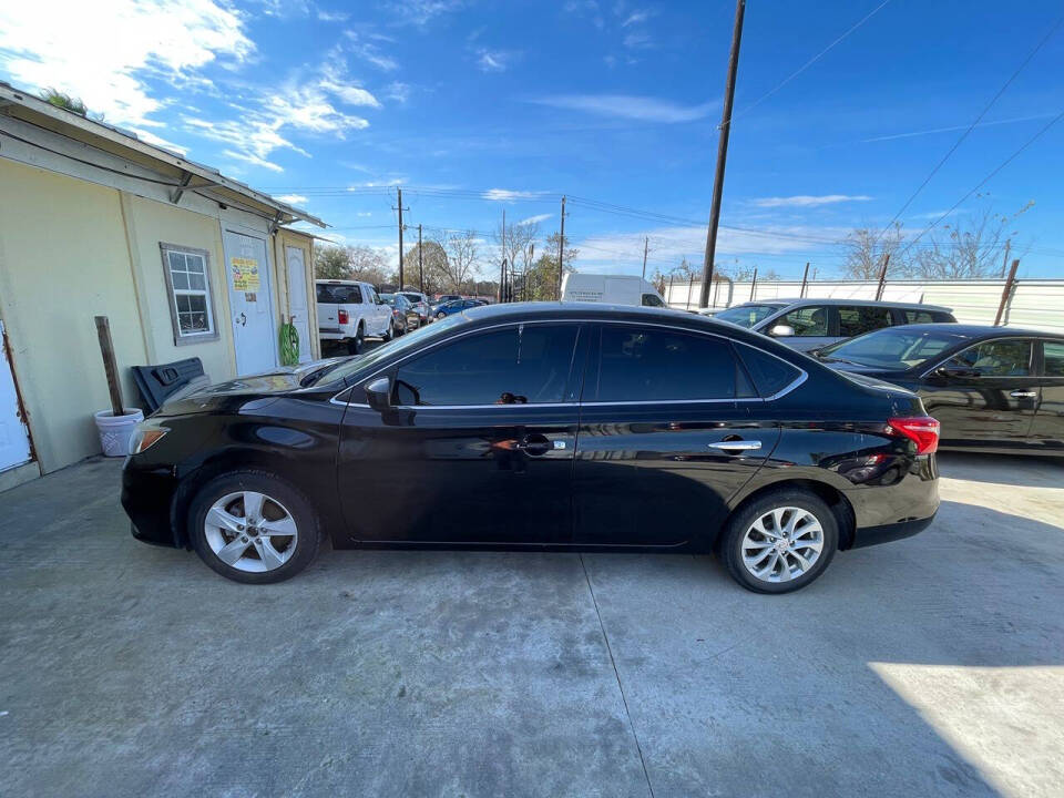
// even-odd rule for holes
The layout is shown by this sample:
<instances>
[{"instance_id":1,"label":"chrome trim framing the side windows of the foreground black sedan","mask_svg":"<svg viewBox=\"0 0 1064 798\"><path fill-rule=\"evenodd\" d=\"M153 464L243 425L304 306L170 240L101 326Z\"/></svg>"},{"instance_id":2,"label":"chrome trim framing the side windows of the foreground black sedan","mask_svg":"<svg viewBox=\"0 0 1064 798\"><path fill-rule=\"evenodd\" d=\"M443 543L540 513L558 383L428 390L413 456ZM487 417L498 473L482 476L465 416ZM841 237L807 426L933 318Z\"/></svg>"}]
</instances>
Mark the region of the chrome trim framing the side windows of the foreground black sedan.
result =
<instances>
[{"instance_id":1,"label":"chrome trim framing the side windows of the foreground black sedan","mask_svg":"<svg viewBox=\"0 0 1064 798\"><path fill-rule=\"evenodd\" d=\"M794 380L792 382L790 382L789 385L787 385L787 386L785 386L784 388L781 388L780 390L778 390L776 393L773 393L771 396L768 396L768 397L743 397L743 398L733 398L733 399L661 399L661 400L632 399L632 400L625 400L625 401L541 402L541 403L531 403L531 405L413 405L413 406L411 406L411 405L397 405L397 406L395 407L395 409L396 409L396 410L427 410L427 409L430 409L430 410L469 410L469 409L477 410L477 409L481 409L481 410L482 410L482 409L487 409L487 408L522 408L522 409L526 409L526 408L539 408L539 407L579 407L579 406L581 406L581 405L586 405L586 406L591 406L591 407L605 407L605 406L635 406L635 405L710 405L710 403L712 403L712 405L717 405L717 403L720 403L720 402L769 402L769 401L775 401L776 399L781 399L782 397L787 396L787 395L790 393L792 390L795 390L796 388L798 388L799 386L801 386L807 379L809 379L809 374L808 374L804 368L801 368L800 366L796 366L795 364L790 362L789 360L787 360L787 359L785 359L785 358L779 357L779 355L775 355L775 354L773 354L773 352L770 352L770 351L766 351L765 349L761 349L760 347L758 347L758 346L756 346L756 345L754 345L754 344L747 344L746 341L733 340L732 338L729 338L729 337L727 337L727 336L725 336L725 335L722 335L722 334L719 334L719 332L713 332L713 331L709 331L709 330L690 329L689 327L678 327L678 326L676 326L676 325L659 324L659 323L654 323L654 321L631 321L631 320L627 320L627 319L595 319L595 318L531 319L531 320L526 320L526 321L503 321L503 323L500 323L500 324L497 324L497 325L490 325L490 326L488 326L488 327L478 327L477 329L467 330L467 331L464 331L464 332L459 332L459 334L457 334L457 335L449 336L448 338L444 338L444 339L441 340L441 341L437 341L436 344L433 344L433 345L432 345L431 347L429 347L428 349L419 349L418 351L409 352L409 354L405 355L403 357L399 358L398 360L389 364L388 366L385 366L385 367L382 367L382 368L374 371L371 375L369 375L369 376L364 377L362 379L360 379L360 380L359 380L357 383L355 383L354 386L348 386L348 387L344 388L341 391L337 392L331 399L329 399L329 401L332 402L332 403L335 403L335 405L342 405L342 406L345 406L345 407L364 407L364 408L368 408L369 405L366 405L366 403L362 403L362 402L345 402L345 401L340 401L339 398L340 398L340 396L342 396L345 392L347 392L347 391L354 391L356 388L358 388L358 386L365 385L366 382L368 382L369 380L374 379L374 378L377 377L378 375L380 375L380 374L382 374L382 372L385 372L385 371L387 371L387 370L389 370L389 369L398 366L399 364L405 362L406 360L409 360L410 358L412 358L412 357L415 357L415 356L417 356L417 355L421 355L421 354L423 354L423 352L431 351L432 349L434 349L434 348L437 348L437 347L439 347L439 346L443 346L444 344L449 344L450 341L457 340L457 339L459 339L459 338L464 338L466 336L475 335L475 334L478 334L478 332L484 332L484 331L488 331L488 330L500 329L500 328L503 328L503 327L512 327L512 326L516 326L516 325L529 325L529 324L616 324L616 325L627 325L627 326L630 326L630 327L633 326L633 325L634 325L634 326L638 326L638 327L658 327L658 328L662 328L662 329L674 330L674 331L676 331L676 332L694 332L695 335L704 335L704 336L709 336L710 338L719 338L720 340L727 341L729 345L734 344L734 345L738 345L738 346L746 346L746 347L749 347L750 349L756 349L757 351L763 352L764 355L768 355L769 357L774 357L774 358L776 358L777 360L780 360L780 361L787 364L788 366L790 366L790 367L792 367L792 368L795 368L795 369L798 369L799 375L798 375L797 378L795 378L795 380ZM755 389L756 389L756 386L755 386Z\"/></svg>"}]
</instances>

